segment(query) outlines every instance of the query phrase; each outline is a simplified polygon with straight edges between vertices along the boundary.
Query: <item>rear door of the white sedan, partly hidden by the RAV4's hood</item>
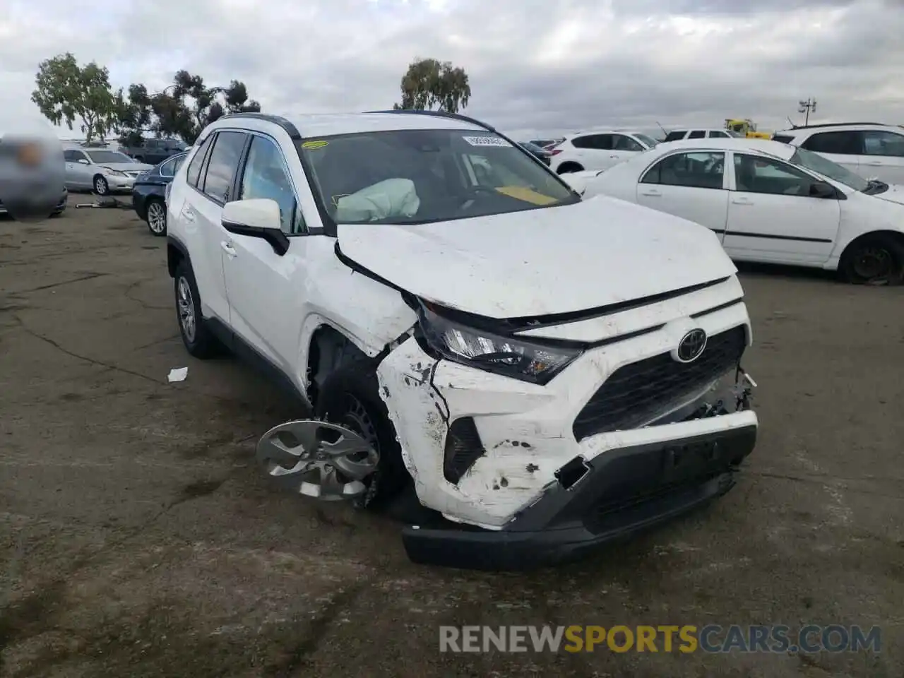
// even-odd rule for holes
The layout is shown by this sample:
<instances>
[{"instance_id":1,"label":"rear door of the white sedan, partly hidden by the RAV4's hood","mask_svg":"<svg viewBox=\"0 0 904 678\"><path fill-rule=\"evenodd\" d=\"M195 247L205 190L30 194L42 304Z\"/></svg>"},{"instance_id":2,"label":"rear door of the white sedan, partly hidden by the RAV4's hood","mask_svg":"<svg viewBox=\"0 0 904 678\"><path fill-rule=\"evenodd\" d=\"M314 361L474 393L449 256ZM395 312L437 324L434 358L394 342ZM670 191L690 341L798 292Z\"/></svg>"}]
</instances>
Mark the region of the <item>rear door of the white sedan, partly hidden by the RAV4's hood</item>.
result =
<instances>
[{"instance_id":1,"label":"rear door of the white sedan, partly hidden by the RAV4's hood","mask_svg":"<svg viewBox=\"0 0 904 678\"><path fill-rule=\"evenodd\" d=\"M725 153L684 151L666 155L641 175L637 202L725 232L729 192Z\"/></svg>"}]
</instances>

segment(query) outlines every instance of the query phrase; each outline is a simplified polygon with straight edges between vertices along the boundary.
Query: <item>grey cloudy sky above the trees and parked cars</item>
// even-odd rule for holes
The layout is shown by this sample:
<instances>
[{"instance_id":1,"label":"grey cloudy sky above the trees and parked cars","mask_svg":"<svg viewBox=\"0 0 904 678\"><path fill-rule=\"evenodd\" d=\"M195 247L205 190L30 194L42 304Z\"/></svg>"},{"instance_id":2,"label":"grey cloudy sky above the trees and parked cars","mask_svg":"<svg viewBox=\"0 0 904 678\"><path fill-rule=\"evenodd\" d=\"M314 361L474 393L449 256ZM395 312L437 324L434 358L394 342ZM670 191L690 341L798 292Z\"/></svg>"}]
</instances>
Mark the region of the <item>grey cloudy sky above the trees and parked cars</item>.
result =
<instances>
[{"instance_id":1,"label":"grey cloudy sky above the trees and parked cars","mask_svg":"<svg viewBox=\"0 0 904 678\"><path fill-rule=\"evenodd\" d=\"M115 87L184 68L243 80L267 112L390 108L415 57L465 68L466 112L530 136L588 127L904 124L904 0L5 0L6 115L42 59ZM811 122L813 119L811 119ZM78 130L76 130L76 134ZM68 130L65 136L71 135Z\"/></svg>"}]
</instances>

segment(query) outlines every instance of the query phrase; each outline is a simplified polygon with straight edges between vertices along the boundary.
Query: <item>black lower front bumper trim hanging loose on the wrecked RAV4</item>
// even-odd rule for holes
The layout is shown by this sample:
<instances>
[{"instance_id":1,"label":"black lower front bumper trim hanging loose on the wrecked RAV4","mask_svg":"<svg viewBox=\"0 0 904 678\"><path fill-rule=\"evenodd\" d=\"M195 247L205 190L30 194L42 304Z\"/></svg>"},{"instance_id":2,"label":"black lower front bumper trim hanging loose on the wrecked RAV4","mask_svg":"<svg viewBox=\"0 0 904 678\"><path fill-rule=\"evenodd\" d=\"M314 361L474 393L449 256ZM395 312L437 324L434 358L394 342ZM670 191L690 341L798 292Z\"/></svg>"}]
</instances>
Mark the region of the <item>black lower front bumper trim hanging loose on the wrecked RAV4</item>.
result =
<instances>
[{"instance_id":1,"label":"black lower front bumper trim hanging loose on the wrecked RAV4","mask_svg":"<svg viewBox=\"0 0 904 678\"><path fill-rule=\"evenodd\" d=\"M530 570L584 556L705 504L735 484L757 426L609 450L569 489L551 484L502 530L402 532L410 560L470 570Z\"/></svg>"}]
</instances>

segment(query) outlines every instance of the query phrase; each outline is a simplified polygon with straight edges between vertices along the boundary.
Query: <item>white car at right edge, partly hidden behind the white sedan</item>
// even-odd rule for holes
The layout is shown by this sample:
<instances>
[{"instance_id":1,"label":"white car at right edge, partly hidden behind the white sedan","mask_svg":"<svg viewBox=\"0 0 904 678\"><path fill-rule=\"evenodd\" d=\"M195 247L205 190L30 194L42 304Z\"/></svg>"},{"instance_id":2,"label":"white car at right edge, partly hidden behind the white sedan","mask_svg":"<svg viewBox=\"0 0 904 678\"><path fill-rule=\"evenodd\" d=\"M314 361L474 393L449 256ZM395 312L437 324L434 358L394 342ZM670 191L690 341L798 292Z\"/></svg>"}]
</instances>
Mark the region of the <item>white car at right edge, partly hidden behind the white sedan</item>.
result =
<instances>
[{"instance_id":1,"label":"white car at right edge, partly hidden behind the white sedan","mask_svg":"<svg viewBox=\"0 0 904 678\"><path fill-rule=\"evenodd\" d=\"M864 179L904 184L904 127L878 123L784 129L773 140L824 155Z\"/></svg>"}]
</instances>

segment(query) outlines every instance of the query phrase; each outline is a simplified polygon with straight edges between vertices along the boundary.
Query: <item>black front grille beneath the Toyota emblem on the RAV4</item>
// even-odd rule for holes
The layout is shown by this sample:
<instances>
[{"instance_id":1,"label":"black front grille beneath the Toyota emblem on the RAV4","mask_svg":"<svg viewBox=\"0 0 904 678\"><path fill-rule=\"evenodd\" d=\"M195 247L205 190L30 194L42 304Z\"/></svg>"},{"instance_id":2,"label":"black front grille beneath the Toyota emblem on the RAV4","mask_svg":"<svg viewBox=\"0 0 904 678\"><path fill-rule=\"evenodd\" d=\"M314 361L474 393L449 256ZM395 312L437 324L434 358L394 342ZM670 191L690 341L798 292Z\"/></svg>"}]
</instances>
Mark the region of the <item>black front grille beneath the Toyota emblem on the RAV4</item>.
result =
<instances>
[{"instance_id":1,"label":"black front grille beneath the Toyota emblem on the RAV4","mask_svg":"<svg viewBox=\"0 0 904 678\"><path fill-rule=\"evenodd\" d=\"M572 427L574 437L582 440L642 426L728 372L746 345L744 325L739 325L713 334L693 363L677 363L671 354L662 353L618 368L580 410Z\"/></svg>"}]
</instances>

